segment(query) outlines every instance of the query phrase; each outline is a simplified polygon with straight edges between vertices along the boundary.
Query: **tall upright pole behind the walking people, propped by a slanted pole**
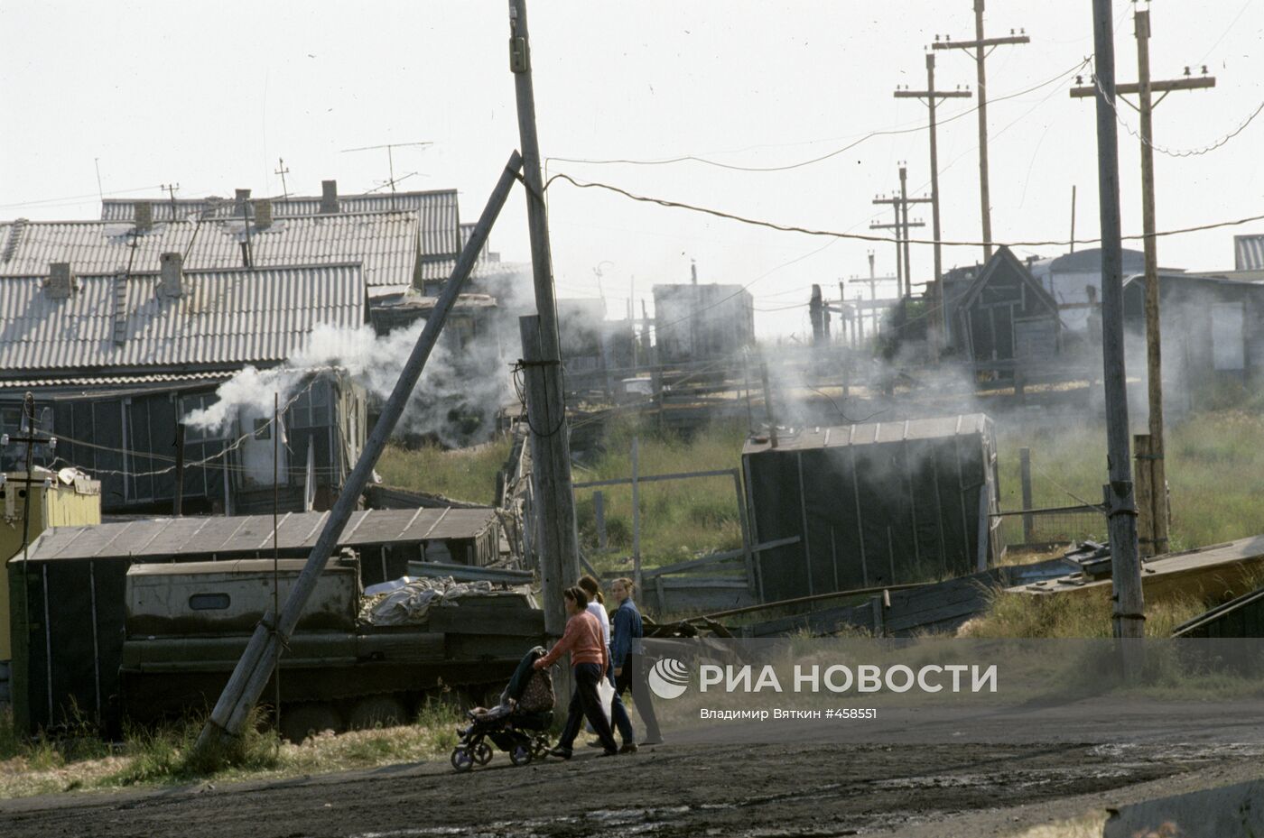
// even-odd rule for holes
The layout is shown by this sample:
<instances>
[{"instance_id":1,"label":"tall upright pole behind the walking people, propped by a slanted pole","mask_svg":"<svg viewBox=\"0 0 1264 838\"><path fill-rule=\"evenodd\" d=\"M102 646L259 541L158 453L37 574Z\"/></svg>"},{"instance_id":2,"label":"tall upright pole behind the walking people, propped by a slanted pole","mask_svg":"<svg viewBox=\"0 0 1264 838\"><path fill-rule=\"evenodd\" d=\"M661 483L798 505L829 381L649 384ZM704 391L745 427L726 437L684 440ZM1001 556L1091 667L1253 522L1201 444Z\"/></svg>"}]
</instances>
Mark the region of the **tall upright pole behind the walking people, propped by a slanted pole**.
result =
<instances>
[{"instance_id":1,"label":"tall upright pole behind the walking people, propped by a slanted pole","mask_svg":"<svg viewBox=\"0 0 1264 838\"><path fill-rule=\"evenodd\" d=\"M561 350L557 337L557 304L554 298L552 255L544 183L540 177L540 143L536 136L536 98L531 81L531 40L526 0L509 0L509 69L517 92L518 136L522 146L522 178L527 197L527 226L531 233L531 273L536 293L538 370L544 377L542 405L527 405L531 422L531 469L540 502L541 586L545 599L545 631L560 637L566 625L562 591L579 578L579 536L575 529L575 492L570 473L570 428L566 422L561 379ZM526 350L525 350L526 351ZM527 355L523 355L527 358ZM564 680L569 680L564 675ZM568 684L562 684L566 687ZM559 694L569 694L562 689Z\"/></svg>"}]
</instances>

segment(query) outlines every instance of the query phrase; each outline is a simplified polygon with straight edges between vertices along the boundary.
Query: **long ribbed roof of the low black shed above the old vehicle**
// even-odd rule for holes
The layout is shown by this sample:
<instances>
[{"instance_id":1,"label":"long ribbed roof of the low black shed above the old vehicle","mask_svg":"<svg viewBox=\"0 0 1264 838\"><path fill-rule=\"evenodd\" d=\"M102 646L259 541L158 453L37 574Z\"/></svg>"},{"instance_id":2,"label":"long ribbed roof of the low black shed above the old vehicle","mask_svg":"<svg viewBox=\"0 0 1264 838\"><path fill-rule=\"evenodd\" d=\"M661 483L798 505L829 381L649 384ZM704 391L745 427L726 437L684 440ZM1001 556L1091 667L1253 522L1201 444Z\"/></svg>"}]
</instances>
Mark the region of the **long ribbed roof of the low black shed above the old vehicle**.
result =
<instances>
[{"instance_id":1,"label":"long ribbed roof of the low black shed above the old vehicle","mask_svg":"<svg viewBox=\"0 0 1264 838\"><path fill-rule=\"evenodd\" d=\"M329 512L289 512L277 528L282 550L310 550ZM351 512L340 548L475 538L495 522L493 509L401 509ZM272 515L159 517L96 526L58 526L30 544L30 562L215 554L272 549Z\"/></svg>"}]
</instances>

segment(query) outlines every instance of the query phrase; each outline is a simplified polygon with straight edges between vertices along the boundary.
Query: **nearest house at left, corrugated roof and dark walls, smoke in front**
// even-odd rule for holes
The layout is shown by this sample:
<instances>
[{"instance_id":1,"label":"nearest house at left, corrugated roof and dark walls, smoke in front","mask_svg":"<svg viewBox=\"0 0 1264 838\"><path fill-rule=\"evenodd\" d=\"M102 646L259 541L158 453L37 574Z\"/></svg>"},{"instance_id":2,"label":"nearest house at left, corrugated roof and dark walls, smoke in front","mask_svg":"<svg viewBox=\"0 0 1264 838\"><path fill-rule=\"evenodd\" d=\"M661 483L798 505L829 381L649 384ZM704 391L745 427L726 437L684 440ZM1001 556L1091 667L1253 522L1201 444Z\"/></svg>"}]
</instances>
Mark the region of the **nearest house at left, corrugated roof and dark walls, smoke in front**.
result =
<instances>
[{"instance_id":1,"label":"nearest house at left, corrugated roof and dark walls, smoke in front","mask_svg":"<svg viewBox=\"0 0 1264 838\"><path fill-rule=\"evenodd\" d=\"M179 252L168 256L159 271L59 263L0 276L0 432L18 433L34 394L38 429L58 440L37 448L37 463L99 478L106 512L172 510L177 475L185 511L270 510L269 387L286 389L282 509L327 509L365 437L364 391L345 374L295 374L284 387L257 376L262 392L222 422L186 419L238 372L283 363L317 326L363 326L360 265L185 270Z\"/></svg>"}]
</instances>

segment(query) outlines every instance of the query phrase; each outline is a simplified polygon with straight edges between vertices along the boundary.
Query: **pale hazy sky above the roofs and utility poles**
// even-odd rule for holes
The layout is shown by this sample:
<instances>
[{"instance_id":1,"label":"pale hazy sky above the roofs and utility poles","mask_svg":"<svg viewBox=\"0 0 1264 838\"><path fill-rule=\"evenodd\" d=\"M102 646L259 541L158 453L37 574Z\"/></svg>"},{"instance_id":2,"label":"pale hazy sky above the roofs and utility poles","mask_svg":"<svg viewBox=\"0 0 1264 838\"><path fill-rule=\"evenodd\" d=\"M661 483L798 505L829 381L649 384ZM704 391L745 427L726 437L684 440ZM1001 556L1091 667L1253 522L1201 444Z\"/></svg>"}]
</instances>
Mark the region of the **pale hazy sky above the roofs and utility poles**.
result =
<instances>
[{"instance_id":1,"label":"pale hazy sky above the roofs and utility poles","mask_svg":"<svg viewBox=\"0 0 1264 838\"><path fill-rule=\"evenodd\" d=\"M1130 3L1115 0L1120 81L1135 81ZM973 37L971 0L891 3L597 3L530 6L541 151L552 158L696 162L597 165L550 160L565 172L631 192L785 225L868 232L890 208L880 192L929 183L925 107L896 100L925 85L935 33ZM1000 47L987 63L992 230L999 242L1064 240L1078 187L1077 236L1097 232L1093 103L1072 100L1069 73L1092 53L1088 0L991 0L987 34L1026 29L1031 43ZM1264 101L1264 3L1155 3L1154 78L1184 66L1217 77L1211 91L1177 92L1155 111L1155 145L1200 149L1237 129ZM518 134L503 0L408 3L52 3L0 1L0 217L95 218L96 165L107 196L230 196L340 191L387 178L386 143L430 141L394 153L401 188L460 191L463 220L482 210ZM1082 71L1087 77L1087 69ZM1060 76L1060 77L1059 77ZM975 63L938 53L942 88L975 88ZM1045 83L1043 87L1034 88ZM1023 92L1005 101L1002 96ZM940 119L973 107L952 100ZM1136 127L1135 112L1121 109ZM1158 227L1261 213L1264 117L1207 154L1157 155ZM977 121L939 130L945 240L980 237ZM1140 232L1138 141L1120 129L1125 233ZM894 245L775 232L693 212L635 203L556 182L549 193L560 297L597 297L622 314L629 293L662 281L750 284L762 334L806 329L808 289L895 268ZM913 216L927 222L929 207ZM1232 268L1232 236L1264 222L1160 239L1163 265ZM1125 246L1129 246L1125 242ZM1139 244L1131 246L1140 247ZM516 192L492 235L507 260L528 257L525 202ZM1063 247L1016 247L1020 256ZM932 271L913 246L914 280ZM972 264L980 247L947 247L944 265ZM633 290L635 289L635 290ZM858 286L848 289L852 297Z\"/></svg>"}]
</instances>

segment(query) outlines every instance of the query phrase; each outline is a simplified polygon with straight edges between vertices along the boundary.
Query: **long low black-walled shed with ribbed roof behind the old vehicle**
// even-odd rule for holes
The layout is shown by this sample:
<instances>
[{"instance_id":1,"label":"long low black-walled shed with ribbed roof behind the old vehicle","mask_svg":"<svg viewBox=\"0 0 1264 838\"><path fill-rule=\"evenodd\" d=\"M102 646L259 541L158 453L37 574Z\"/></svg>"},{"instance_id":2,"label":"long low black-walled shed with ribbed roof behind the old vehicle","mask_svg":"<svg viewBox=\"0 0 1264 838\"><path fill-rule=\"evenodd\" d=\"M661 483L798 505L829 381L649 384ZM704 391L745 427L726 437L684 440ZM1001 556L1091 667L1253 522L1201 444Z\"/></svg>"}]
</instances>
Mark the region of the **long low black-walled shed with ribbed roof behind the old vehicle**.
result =
<instances>
[{"instance_id":1,"label":"long low black-walled shed with ribbed roof behind the old vehicle","mask_svg":"<svg viewBox=\"0 0 1264 838\"><path fill-rule=\"evenodd\" d=\"M327 512L283 515L282 559L306 559ZM360 555L362 582L407 573L408 562L485 565L499 545L492 509L353 512L339 549ZM82 713L110 729L119 719L119 665L134 564L270 559L272 516L148 519L63 526L8 564L15 722L35 731ZM28 616L29 615L29 616Z\"/></svg>"}]
</instances>

